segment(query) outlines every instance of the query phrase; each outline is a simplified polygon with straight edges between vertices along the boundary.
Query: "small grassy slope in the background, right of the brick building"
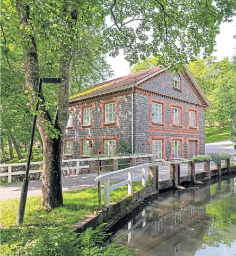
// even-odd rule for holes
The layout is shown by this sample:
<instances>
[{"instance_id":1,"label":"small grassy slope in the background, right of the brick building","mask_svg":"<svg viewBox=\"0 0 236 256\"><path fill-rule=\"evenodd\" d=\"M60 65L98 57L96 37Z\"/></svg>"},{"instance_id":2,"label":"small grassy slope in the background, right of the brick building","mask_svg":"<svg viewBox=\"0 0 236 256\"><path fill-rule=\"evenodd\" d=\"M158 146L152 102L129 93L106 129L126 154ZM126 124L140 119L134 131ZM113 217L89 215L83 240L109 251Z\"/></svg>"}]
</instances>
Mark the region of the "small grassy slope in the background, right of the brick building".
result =
<instances>
[{"instance_id":1,"label":"small grassy slope in the background, right of the brick building","mask_svg":"<svg viewBox=\"0 0 236 256\"><path fill-rule=\"evenodd\" d=\"M205 128L206 143L220 142L230 139L231 126L221 127L221 133L218 133L218 127Z\"/></svg>"}]
</instances>

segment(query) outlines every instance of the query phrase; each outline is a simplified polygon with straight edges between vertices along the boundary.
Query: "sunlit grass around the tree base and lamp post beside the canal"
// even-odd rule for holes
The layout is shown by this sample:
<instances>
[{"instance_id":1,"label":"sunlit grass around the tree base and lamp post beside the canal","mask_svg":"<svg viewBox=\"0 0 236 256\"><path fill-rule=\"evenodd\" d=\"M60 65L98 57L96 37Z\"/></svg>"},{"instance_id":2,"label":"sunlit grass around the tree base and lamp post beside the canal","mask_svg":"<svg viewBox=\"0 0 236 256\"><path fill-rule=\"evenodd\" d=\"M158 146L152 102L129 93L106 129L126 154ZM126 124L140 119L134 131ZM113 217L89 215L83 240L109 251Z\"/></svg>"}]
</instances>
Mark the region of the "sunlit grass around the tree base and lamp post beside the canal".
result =
<instances>
[{"instance_id":1,"label":"sunlit grass around the tree base and lamp post beside the canal","mask_svg":"<svg viewBox=\"0 0 236 256\"><path fill-rule=\"evenodd\" d=\"M142 189L141 182L133 183L133 191ZM110 201L120 201L127 195L127 186L120 187L110 193ZM37 240L47 229L63 229L91 211L98 210L97 187L79 189L63 193L64 207L50 212L41 209L41 196L31 196L27 199L24 225L16 226L19 199L1 202L1 255L19 255L25 244ZM103 199L102 199L103 202Z\"/></svg>"}]
</instances>

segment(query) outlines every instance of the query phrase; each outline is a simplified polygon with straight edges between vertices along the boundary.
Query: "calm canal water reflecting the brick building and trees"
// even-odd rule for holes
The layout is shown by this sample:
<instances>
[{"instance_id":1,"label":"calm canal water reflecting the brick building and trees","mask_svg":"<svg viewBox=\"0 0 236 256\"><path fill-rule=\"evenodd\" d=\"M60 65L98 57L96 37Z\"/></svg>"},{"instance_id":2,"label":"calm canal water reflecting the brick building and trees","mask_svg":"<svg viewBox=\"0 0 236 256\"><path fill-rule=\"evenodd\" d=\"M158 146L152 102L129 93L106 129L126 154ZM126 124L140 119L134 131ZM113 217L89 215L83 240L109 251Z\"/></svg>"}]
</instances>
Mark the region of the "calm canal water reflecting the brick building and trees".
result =
<instances>
[{"instance_id":1,"label":"calm canal water reflecting the brick building and trees","mask_svg":"<svg viewBox=\"0 0 236 256\"><path fill-rule=\"evenodd\" d=\"M111 232L108 243L137 249L138 255L236 256L236 175L160 194Z\"/></svg>"}]
</instances>

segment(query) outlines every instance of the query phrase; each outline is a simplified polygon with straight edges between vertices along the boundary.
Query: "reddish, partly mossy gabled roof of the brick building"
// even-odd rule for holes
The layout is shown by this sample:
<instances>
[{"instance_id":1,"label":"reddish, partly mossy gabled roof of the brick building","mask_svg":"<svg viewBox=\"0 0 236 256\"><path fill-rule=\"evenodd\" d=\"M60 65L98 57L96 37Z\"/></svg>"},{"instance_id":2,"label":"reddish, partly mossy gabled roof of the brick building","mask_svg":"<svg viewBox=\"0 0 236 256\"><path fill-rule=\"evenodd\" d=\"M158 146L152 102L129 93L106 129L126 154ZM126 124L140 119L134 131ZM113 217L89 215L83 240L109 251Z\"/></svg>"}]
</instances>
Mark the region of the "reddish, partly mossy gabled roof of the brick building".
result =
<instances>
[{"instance_id":1,"label":"reddish, partly mossy gabled roof of the brick building","mask_svg":"<svg viewBox=\"0 0 236 256\"><path fill-rule=\"evenodd\" d=\"M204 103L205 103L204 105L209 106L210 103L207 100L202 89L197 84L196 80L194 79L193 75L191 74L191 72L189 71L187 66L186 65L184 65L184 66L186 69L186 74L188 75L188 77L191 81L191 84L193 84L193 86L195 87L194 88L195 93L197 93L197 95L200 96L200 98L202 98L201 100L204 101ZM120 78L112 79L109 81L101 82L100 84L91 86L87 89L82 90L81 92L78 92L78 93L75 93L75 94L69 96L69 102L72 103L72 102L80 101L80 100L88 98L88 97L94 97L94 96L98 96L98 95L106 94L106 93L110 93L110 92L116 92L117 90L123 90L126 88L130 88L133 85L137 86L137 85L141 84L142 82L146 81L147 79L150 79L150 78L154 77L155 75L158 75L159 73L162 73L168 69L169 69L169 67L161 68L158 66L158 67L143 70L141 72L137 72L132 75L125 76L125 77L120 77Z\"/></svg>"}]
</instances>

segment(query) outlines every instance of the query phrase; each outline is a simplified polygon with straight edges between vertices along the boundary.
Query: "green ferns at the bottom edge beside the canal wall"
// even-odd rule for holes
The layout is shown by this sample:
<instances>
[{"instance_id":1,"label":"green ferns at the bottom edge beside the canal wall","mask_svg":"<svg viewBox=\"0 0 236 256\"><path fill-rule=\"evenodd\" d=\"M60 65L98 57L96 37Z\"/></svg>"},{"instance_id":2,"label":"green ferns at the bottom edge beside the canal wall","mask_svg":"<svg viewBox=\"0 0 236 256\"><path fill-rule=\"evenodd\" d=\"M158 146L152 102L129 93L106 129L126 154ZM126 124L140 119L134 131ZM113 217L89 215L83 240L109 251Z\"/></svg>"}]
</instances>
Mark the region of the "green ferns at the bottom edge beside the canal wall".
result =
<instances>
[{"instance_id":1,"label":"green ferns at the bottom edge beside the canal wall","mask_svg":"<svg viewBox=\"0 0 236 256\"><path fill-rule=\"evenodd\" d=\"M108 238L103 227L88 228L82 234L72 232L69 227L42 229L37 240L25 246L21 255L30 256L133 256L136 250L123 245L111 243L107 247L104 241Z\"/></svg>"}]
</instances>

